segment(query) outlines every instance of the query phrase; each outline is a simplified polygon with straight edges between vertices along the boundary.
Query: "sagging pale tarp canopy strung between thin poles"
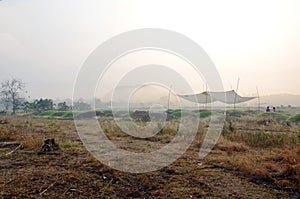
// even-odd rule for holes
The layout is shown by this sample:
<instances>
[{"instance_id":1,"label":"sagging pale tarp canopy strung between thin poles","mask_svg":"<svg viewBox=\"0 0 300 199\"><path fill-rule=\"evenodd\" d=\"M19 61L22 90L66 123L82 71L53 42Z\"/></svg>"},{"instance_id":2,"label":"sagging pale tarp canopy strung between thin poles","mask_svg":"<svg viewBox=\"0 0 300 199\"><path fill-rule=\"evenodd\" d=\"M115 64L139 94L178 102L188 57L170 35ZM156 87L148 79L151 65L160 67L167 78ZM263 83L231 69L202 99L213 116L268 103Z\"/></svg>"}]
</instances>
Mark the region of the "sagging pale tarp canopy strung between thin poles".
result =
<instances>
[{"instance_id":1,"label":"sagging pale tarp canopy strung between thin poles","mask_svg":"<svg viewBox=\"0 0 300 199\"><path fill-rule=\"evenodd\" d=\"M238 104L252 100L256 97L242 97L238 95L234 90L225 92L203 92L199 94L191 95L178 95L179 97L186 99L191 102L197 102L201 104L211 103L211 102L223 102L226 104Z\"/></svg>"}]
</instances>

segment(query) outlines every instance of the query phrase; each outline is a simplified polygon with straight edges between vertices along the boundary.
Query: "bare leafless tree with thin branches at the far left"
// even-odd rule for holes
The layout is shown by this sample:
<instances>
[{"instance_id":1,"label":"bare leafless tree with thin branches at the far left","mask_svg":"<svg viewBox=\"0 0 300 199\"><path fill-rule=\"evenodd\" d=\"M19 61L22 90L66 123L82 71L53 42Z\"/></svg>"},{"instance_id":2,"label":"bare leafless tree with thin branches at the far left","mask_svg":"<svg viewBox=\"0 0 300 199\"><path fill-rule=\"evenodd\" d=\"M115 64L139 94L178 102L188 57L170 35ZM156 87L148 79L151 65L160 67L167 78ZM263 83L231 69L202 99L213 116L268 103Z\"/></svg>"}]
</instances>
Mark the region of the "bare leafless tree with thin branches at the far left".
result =
<instances>
[{"instance_id":1,"label":"bare leafless tree with thin branches at the far left","mask_svg":"<svg viewBox=\"0 0 300 199\"><path fill-rule=\"evenodd\" d=\"M12 106L13 114L22 103L22 92L24 91L25 85L21 80L11 79L1 83L0 95L1 101L4 103L6 109Z\"/></svg>"}]
</instances>

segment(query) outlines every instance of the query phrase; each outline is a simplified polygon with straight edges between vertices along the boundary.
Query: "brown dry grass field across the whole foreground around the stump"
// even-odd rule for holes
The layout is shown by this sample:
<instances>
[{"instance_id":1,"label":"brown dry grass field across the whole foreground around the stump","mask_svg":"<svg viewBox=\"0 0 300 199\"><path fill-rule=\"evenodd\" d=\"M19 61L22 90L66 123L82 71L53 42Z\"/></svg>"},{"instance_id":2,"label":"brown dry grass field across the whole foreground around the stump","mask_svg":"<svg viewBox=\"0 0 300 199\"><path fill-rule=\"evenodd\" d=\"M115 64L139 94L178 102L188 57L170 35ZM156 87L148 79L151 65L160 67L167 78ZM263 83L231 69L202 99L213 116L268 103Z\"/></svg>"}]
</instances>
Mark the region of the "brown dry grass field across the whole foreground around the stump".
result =
<instances>
[{"instance_id":1,"label":"brown dry grass field across the whole foreground around the stump","mask_svg":"<svg viewBox=\"0 0 300 199\"><path fill-rule=\"evenodd\" d=\"M131 174L90 155L73 120L0 118L0 198L299 198L300 125L254 113L228 114L212 152L198 157L209 118L186 153L158 171ZM169 143L178 120L154 137L136 139L111 117L100 117L120 148L149 152ZM58 150L42 151L54 138ZM149 146L149 147L145 147ZM151 148L152 146L152 148Z\"/></svg>"}]
</instances>

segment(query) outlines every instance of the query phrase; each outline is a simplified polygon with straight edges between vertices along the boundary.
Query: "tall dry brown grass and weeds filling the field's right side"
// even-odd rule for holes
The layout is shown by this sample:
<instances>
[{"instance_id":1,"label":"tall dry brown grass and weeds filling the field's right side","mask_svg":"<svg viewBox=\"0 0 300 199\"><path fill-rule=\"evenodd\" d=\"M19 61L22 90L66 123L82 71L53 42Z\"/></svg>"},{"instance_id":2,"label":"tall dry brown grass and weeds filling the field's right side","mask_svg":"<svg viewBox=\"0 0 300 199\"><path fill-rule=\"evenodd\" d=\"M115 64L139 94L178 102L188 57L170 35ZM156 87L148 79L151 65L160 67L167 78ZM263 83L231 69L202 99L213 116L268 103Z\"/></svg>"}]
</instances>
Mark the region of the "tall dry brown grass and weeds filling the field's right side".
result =
<instances>
[{"instance_id":1,"label":"tall dry brown grass and weeds filling the field's right side","mask_svg":"<svg viewBox=\"0 0 300 199\"><path fill-rule=\"evenodd\" d=\"M223 136L208 156L209 164L241 175L300 191L299 127L253 118L237 118L225 125ZM220 152L218 152L220 151Z\"/></svg>"}]
</instances>

